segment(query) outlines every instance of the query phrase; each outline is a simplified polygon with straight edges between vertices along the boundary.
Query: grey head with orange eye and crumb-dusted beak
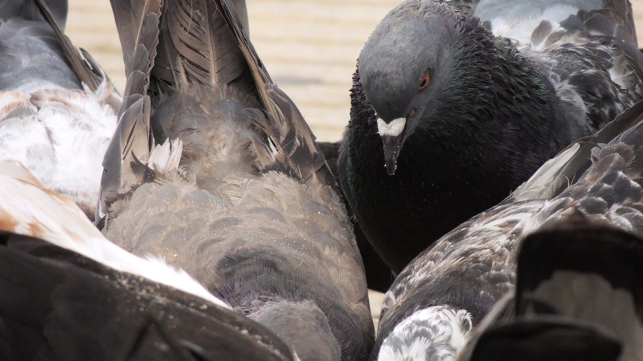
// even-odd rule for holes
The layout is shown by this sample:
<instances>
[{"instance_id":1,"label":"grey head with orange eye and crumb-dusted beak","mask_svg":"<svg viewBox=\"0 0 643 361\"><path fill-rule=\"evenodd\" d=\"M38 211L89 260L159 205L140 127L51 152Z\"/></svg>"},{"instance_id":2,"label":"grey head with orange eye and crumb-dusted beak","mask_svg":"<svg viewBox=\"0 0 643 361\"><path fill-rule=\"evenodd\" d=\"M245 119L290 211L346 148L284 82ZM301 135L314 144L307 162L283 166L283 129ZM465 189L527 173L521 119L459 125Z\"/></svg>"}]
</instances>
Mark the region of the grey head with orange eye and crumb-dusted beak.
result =
<instances>
[{"instance_id":1,"label":"grey head with orange eye and crumb-dusted beak","mask_svg":"<svg viewBox=\"0 0 643 361\"><path fill-rule=\"evenodd\" d=\"M406 1L386 15L359 55L360 81L377 114L390 175L404 141L430 121L435 98L451 83L450 47L461 19L444 3Z\"/></svg>"}]
</instances>

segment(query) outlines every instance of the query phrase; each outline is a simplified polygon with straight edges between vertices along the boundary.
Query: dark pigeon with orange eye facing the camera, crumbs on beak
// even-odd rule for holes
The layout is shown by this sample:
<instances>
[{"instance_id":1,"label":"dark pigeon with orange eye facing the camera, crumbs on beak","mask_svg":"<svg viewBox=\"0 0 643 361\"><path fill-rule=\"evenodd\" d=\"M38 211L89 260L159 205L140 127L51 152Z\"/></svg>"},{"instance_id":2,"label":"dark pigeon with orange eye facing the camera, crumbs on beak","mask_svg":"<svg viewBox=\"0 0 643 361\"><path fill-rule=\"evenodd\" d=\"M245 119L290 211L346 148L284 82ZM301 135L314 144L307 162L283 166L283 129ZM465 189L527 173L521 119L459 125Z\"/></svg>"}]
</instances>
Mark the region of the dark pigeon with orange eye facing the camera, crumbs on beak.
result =
<instances>
[{"instance_id":1,"label":"dark pigeon with orange eye facing the camera, crumbs on beak","mask_svg":"<svg viewBox=\"0 0 643 361\"><path fill-rule=\"evenodd\" d=\"M397 274L642 99L627 0L407 0L361 50L341 188Z\"/></svg>"}]
</instances>

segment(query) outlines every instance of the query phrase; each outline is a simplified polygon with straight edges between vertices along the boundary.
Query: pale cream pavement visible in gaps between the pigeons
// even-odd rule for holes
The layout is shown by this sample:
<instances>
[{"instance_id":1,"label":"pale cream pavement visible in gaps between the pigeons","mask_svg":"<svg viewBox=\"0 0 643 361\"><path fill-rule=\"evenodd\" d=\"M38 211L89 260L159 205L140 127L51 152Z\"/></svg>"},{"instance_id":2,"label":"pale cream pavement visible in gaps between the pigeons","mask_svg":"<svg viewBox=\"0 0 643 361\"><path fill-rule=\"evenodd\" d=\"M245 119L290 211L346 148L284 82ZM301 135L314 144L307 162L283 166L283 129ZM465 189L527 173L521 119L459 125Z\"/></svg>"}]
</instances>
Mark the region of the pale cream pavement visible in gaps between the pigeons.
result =
<instances>
[{"instance_id":1,"label":"pale cream pavement visible in gaps between the pigeons","mask_svg":"<svg viewBox=\"0 0 643 361\"><path fill-rule=\"evenodd\" d=\"M355 62L377 23L400 0L247 0L250 36L267 70L298 105L318 139L336 141L349 119ZM125 88L123 58L108 0L69 0L66 33ZM632 1L639 44L643 0ZM372 292L374 319L381 294Z\"/></svg>"}]
</instances>

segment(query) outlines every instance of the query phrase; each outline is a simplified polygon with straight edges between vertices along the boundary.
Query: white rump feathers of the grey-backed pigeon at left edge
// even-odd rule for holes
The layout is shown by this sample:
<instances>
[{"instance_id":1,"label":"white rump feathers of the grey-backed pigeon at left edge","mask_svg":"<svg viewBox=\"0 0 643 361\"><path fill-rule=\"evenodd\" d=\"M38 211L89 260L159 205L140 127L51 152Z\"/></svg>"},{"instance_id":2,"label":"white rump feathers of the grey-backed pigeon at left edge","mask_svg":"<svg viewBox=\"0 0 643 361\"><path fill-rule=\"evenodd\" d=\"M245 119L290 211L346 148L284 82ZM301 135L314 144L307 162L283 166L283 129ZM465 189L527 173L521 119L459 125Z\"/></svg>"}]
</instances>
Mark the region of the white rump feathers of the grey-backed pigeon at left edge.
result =
<instances>
[{"instance_id":1,"label":"white rump feathers of the grey-backed pigeon at left edge","mask_svg":"<svg viewBox=\"0 0 643 361\"><path fill-rule=\"evenodd\" d=\"M0 162L23 164L48 189L93 215L102 160L116 128L114 109L100 97L55 87L0 92Z\"/></svg>"}]
</instances>

